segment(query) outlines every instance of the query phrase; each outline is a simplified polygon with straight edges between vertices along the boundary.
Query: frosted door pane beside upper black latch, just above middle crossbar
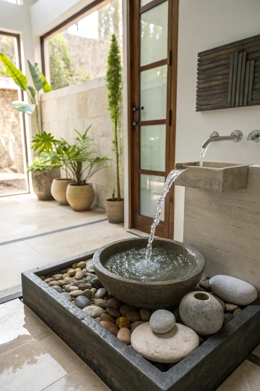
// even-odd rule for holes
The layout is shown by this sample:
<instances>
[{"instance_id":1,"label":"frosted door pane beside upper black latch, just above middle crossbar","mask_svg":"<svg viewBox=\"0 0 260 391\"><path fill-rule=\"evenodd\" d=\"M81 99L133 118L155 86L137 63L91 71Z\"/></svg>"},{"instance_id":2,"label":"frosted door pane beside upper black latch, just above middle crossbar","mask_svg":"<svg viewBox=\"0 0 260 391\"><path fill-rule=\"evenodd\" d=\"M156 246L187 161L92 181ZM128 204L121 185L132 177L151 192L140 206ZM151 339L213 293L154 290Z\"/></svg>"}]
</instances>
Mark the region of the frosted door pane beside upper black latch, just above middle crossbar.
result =
<instances>
[{"instance_id":1,"label":"frosted door pane beside upper black latch, just above middle crossbar","mask_svg":"<svg viewBox=\"0 0 260 391\"><path fill-rule=\"evenodd\" d=\"M166 118L167 65L140 73L141 121Z\"/></svg>"}]
</instances>

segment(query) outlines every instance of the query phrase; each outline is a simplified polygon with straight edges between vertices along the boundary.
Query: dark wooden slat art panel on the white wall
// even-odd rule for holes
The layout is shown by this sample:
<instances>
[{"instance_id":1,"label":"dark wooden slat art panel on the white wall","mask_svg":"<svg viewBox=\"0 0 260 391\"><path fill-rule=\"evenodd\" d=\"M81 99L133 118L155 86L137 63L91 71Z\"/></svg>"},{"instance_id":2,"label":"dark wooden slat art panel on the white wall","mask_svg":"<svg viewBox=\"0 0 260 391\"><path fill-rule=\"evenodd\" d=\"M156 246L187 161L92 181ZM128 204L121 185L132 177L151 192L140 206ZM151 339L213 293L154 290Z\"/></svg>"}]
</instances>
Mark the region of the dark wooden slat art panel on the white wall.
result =
<instances>
[{"instance_id":1,"label":"dark wooden slat art panel on the white wall","mask_svg":"<svg viewBox=\"0 0 260 391\"><path fill-rule=\"evenodd\" d=\"M198 53L196 111L260 104L260 35Z\"/></svg>"}]
</instances>

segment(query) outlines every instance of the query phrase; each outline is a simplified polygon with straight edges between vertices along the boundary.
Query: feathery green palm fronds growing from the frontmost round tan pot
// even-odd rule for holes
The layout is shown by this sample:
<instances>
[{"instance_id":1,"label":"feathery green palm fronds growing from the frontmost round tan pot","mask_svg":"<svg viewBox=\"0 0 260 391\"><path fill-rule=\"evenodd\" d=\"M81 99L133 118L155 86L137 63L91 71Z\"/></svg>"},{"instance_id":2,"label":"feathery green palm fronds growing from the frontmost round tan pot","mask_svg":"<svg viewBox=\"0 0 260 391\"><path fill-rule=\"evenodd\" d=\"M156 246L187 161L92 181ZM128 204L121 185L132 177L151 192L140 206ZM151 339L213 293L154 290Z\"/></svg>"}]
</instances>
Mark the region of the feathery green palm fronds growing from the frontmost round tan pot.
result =
<instances>
[{"instance_id":1,"label":"feathery green palm fronds growing from the frontmost round tan pot","mask_svg":"<svg viewBox=\"0 0 260 391\"><path fill-rule=\"evenodd\" d=\"M90 126L83 135L74 129L77 133L75 143L71 145L62 139L56 146L56 151L51 152L53 159L60 162L77 186L86 185L92 175L107 167L104 166L104 162L110 160L107 157L95 157L93 139L87 135L89 129Z\"/></svg>"}]
</instances>

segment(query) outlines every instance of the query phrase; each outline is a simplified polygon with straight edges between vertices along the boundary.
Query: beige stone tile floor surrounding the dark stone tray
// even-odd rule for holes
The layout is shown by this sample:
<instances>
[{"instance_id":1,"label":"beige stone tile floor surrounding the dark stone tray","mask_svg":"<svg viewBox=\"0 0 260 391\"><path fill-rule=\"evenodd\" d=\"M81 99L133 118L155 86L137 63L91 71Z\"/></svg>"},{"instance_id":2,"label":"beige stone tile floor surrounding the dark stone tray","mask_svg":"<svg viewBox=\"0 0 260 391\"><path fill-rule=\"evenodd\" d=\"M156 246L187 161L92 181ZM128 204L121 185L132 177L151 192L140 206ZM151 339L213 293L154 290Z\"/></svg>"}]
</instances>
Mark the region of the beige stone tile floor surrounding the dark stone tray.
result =
<instances>
[{"instance_id":1,"label":"beige stone tile floor surrounding the dark stone tray","mask_svg":"<svg viewBox=\"0 0 260 391\"><path fill-rule=\"evenodd\" d=\"M107 220L97 222L106 218L102 210L77 213L55 201L38 202L34 195L28 194L0 198L0 216L0 298L1 290L4 296L21 290L21 271L134 236L121 225L111 225ZM89 222L94 224L28 239ZM13 241L21 238L27 239ZM1 245L7 241L12 242ZM260 346L253 354L260 358ZM30 389L109 390L22 301L14 299L0 304L0 390ZM218 391L259 390L260 366L248 360L218 388Z\"/></svg>"}]
</instances>

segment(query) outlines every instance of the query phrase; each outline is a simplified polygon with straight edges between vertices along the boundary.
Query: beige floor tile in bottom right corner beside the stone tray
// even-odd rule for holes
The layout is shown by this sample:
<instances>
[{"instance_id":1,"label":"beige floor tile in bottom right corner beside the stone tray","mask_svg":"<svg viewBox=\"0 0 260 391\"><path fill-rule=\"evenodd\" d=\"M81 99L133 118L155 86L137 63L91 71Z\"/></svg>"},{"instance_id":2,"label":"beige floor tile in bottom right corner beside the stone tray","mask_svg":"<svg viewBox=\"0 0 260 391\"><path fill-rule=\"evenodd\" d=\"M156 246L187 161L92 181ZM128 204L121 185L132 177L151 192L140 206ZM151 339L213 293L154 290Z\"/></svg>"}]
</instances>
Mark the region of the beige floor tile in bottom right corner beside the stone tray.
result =
<instances>
[{"instance_id":1,"label":"beige floor tile in bottom right corner beside the stone tray","mask_svg":"<svg viewBox=\"0 0 260 391\"><path fill-rule=\"evenodd\" d=\"M245 360L217 391L259 391L260 367Z\"/></svg>"}]
</instances>

